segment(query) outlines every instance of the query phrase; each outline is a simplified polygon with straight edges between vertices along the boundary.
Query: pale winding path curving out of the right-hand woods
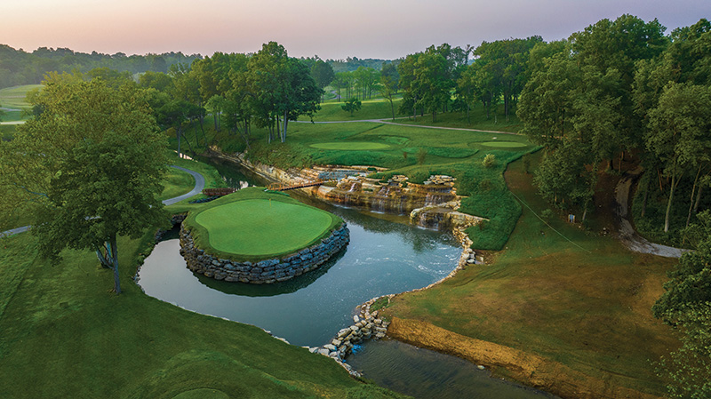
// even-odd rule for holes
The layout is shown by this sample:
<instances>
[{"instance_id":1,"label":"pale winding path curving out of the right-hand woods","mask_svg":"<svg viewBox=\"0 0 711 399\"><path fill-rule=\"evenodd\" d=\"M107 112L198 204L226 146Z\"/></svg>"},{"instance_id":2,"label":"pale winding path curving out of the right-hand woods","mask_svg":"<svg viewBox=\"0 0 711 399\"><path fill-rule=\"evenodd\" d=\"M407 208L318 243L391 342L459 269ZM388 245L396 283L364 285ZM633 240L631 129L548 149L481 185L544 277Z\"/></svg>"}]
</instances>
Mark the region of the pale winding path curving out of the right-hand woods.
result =
<instances>
[{"instance_id":1,"label":"pale winding path curving out of the right-hand woods","mask_svg":"<svg viewBox=\"0 0 711 399\"><path fill-rule=\"evenodd\" d=\"M615 187L615 200L617 209L615 210L619 216L619 240L627 246L630 251L651 253L666 258L681 258L682 253L688 250L661 245L659 243L650 243L641 235L638 235L635 228L627 219L627 209L629 209L628 198L629 191L632 188L632 182L637 176L642 173L642 168L637 167L634 171L625 173L618 181Z\"/></svg>"}]
</instances>

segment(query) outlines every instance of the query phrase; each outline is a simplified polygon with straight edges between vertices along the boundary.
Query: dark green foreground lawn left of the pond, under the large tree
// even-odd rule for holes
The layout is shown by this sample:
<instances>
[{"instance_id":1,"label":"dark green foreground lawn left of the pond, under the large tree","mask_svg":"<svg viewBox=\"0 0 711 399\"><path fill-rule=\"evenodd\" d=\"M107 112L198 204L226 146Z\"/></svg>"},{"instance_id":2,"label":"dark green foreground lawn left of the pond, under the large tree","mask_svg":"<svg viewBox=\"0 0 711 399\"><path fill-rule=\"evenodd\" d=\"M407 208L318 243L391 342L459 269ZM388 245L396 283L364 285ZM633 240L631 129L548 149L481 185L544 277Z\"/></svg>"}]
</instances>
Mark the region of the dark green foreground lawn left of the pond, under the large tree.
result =
<instances>
[{"instance_id":1,"label":"dark green foreground lawn left of the pond, under the large tree","mask_svg":"<svg viewBox=\"0 0 711 399\"><path fill-rule=\"evenodd\" d=\"M259 328L148 297L132 275L152 235L120 240L121 295L89 251L52 263L32 235L0 241L0 397L401 397Z\"/></svg>"}]
</instances>

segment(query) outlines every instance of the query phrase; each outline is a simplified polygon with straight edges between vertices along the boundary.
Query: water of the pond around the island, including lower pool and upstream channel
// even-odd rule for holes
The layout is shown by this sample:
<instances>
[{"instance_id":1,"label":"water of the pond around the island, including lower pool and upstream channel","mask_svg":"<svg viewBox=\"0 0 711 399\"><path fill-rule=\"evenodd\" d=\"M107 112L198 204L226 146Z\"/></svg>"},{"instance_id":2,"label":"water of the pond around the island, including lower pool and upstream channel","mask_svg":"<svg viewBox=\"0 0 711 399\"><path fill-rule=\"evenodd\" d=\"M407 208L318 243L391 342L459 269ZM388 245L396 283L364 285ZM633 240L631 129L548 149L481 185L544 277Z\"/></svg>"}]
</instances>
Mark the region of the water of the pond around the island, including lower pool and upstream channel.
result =
<instances>
[{"instance_id":1,"label":"water of the pond around the island, including lower pool and upstream channel","mask_svg":"<svg viewBox=\"0 0 711 399\"><path fill-rule=\"evenodd\" d=\"M232 187L250 181L235 167L215 166ZM140 267L138 283L157 299L254 324L293 345L317 347L353 323L356 307L366 300L427 286L457 265L461 249L451 235L411 227L402 216L300 200L338 214L350 230L348 247L315 271L269 285L216 281L186 267L173 231ZM415 397L552 397L491 379L459 358L397 341L366 342L347 360L366 378Z\"/></svg>"}]
</instances>

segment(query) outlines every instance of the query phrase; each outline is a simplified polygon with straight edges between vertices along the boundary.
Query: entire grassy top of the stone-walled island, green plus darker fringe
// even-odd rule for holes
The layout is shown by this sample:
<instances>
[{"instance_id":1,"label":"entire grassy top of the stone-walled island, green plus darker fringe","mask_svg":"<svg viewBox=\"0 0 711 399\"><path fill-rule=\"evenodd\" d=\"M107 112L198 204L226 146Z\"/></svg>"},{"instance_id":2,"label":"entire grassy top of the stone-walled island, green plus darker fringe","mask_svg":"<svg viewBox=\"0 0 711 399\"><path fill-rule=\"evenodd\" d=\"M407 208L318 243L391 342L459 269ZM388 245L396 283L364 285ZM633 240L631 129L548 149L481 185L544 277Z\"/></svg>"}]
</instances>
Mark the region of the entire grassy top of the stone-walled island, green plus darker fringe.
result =
<instances>
[{"instance_id":1,"label":"entire grassy top of the stone-walled island, green plus darker fringe","mask_svg":"<svg viewBox=\"0 0 711 399\"><path fill-rule=\"evenodd\" d=\"M197 246L225 259L260 260L317 243L343 220L264 188L243 188L190 212Z\"/></svg>"}]
</instances>

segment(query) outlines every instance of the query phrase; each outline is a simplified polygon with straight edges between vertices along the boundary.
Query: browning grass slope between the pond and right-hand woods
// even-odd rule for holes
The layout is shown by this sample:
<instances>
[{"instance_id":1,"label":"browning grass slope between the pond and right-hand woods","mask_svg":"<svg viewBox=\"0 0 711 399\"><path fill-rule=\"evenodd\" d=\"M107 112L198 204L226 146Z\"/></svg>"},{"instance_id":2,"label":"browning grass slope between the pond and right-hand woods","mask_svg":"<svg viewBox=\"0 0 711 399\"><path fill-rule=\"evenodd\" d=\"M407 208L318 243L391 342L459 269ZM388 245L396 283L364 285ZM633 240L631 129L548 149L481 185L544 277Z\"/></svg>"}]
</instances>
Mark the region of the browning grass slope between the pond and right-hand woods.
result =
<instances>
[{"instance_id":1,"label":"browning grass slope between the pond and right-hand woods","mask_svg":"<svg viewBox=\"0 0 711 399\"><path fill-rule=\"evenodd\" d=\"M508 185L540 213L548 205L536 195L522 164L511 164ZM602 227L611 228L606 221L586 231L561 219L550 224L564 237L524 207L507 250L491 254L491 264L467 267L426 291L397 296L387 314L663 395L663 381L651 362L678 343L653 318L651 305L675 260L632 253L615 238L598 235Z\"/></svg>"}]
</instances>

